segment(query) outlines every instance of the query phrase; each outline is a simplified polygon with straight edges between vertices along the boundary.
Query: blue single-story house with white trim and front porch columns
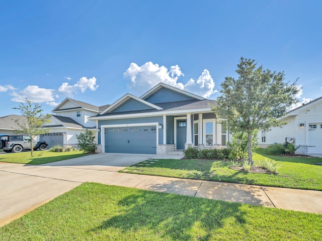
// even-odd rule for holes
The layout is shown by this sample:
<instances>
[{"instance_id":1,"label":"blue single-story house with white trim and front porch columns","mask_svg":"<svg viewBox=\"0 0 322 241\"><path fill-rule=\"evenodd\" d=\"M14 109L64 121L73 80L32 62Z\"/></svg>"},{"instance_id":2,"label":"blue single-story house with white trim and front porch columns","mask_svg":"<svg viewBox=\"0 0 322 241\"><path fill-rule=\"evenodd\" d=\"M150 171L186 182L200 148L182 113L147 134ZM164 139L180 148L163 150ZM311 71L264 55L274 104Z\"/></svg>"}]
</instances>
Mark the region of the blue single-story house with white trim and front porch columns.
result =
<instances>
[{"instance_id":1,"label":"blue single-story house with white trim and front porch columns","mask_svg":"<svg viewBox=\"0 0 322 241\"><path fill-rule=\"evenodd\" d=\"M166 155L189 146L226 145L211 111L214 100L159 83L140 97L125 94L90 117L97 122L98 146L105 152Z\"/></svg>"}]
</instances>

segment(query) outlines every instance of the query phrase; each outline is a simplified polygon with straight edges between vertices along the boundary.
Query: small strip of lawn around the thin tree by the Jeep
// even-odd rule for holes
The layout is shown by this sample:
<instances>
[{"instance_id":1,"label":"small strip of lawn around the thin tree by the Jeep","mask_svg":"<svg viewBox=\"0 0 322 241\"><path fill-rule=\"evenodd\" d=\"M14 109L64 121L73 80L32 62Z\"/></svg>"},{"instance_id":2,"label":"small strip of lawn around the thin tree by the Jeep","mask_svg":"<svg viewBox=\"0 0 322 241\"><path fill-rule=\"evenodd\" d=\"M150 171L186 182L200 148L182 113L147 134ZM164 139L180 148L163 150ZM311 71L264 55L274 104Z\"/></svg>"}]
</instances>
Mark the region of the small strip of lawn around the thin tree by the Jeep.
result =
<instances>
[{"instance_id":1,"label":"small strip of lawn around the thin tree by the Jeep","mask_svg":"<svg viewBox=\"0 0 322 241\"><path fill-rule=\"evenodd\" d=\"M87 154L84 153L83 151L71 151L71 152L34 151L33 157L30 156L30 152L6 153L6 154L0 155L0 162L39 165L39 164L71 159L75 157L82 157L85 155Z\"/></svg>"}]
</instances>

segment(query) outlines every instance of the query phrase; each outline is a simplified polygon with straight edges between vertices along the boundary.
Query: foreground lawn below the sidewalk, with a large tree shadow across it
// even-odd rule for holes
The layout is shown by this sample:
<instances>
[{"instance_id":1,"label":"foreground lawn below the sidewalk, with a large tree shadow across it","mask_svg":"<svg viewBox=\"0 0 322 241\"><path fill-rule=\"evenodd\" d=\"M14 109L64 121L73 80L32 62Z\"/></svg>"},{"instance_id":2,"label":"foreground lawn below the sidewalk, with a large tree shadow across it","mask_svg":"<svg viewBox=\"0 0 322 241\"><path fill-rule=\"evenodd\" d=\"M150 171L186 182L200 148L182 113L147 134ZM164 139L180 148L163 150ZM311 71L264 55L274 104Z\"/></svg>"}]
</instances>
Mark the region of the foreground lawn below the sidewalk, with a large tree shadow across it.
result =
<instances>
[{"instance_id":1,"label":"foreground lawn below the sidewalk, with a large tree shadow across it","mask_svg":"<svg viewBox=\"0 0 322 241\"><path fill-rule=\"evenodd\" d=\"M84 183L0 240L321 240L322 215Z\"/></svg>"}]
</instances>

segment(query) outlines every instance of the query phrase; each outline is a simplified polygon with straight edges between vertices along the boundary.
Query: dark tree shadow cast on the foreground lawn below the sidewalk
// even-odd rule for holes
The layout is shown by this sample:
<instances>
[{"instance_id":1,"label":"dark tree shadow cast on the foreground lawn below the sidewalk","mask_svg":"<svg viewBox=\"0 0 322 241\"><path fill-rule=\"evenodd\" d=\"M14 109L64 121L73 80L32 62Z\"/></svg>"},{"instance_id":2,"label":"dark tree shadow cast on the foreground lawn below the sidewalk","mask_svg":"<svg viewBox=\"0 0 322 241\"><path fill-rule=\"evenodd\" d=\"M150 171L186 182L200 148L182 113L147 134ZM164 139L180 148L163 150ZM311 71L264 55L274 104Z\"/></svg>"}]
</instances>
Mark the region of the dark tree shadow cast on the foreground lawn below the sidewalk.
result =
<instances>
[{"instance_id":1,"label":"dark tree shadow cast on the foreground lawn below the sidewalk","mask_svg":"<svg viewBox=\"0 0 322 241\"><path fill-rule=\"evenodd\" d=\"M121 199L118 205L123 208L121 214L89 231L99 233L102 229L116 228L121 233L140 233L148 230L154 237L163 239L210 240L212 232L226 225L226 220L232 225L246 223L241 204L190 196L139 190L138 194ZM202 230L197 231L197 236L195 228Z\"/></svg>"}]
</instances>

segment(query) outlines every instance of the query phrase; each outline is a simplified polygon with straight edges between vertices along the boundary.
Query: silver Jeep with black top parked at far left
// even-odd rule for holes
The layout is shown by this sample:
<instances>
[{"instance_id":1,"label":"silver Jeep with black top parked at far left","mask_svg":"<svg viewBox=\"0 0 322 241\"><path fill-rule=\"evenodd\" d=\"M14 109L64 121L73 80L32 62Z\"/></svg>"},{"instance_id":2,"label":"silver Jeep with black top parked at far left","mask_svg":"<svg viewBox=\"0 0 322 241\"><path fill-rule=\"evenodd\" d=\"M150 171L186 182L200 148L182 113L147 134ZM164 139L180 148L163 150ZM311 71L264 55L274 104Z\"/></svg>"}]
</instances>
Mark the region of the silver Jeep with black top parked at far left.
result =
<instances>
[{"instance_id":1,"label":"silver Jeep with black top parked at far left","mask_svg":"<svg viewBox=\"0 0 322 241\"><path fill-rule=\"evenodd\" d=\"M45 141L33 140L33 150L44 151L47 146ZM0 149L16 153L31 150L31 138L24 135L0 135Z\"/></svg>"}]
</instances>

